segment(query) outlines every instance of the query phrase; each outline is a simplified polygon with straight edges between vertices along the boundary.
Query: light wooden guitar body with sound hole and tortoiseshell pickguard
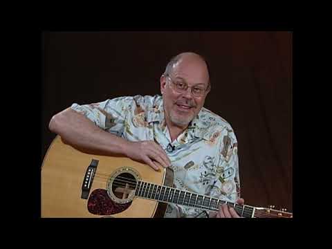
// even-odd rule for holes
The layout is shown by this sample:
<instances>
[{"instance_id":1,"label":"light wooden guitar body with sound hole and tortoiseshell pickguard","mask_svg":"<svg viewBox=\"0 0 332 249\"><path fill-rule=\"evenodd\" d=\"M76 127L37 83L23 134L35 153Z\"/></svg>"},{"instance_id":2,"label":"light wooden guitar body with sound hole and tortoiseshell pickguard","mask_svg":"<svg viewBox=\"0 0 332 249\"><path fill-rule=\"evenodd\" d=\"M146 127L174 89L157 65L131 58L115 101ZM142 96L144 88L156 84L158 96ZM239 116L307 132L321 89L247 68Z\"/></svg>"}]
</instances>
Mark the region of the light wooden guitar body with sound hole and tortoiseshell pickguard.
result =
<instances>
[{"instance_id":1,"label":"light wooden guitar body with sound hole and tortoiseshell pickguard","mask_svg":"<svg viewBox=\"0 0 332 249\"><path fill-rule=\"evenodd\" d=\"M172 186L173 174L130 158L84 153L57 136L42 165L42 217L162 217L167 203L135 198L137 181Z\"/></svg>"}]
</instances>

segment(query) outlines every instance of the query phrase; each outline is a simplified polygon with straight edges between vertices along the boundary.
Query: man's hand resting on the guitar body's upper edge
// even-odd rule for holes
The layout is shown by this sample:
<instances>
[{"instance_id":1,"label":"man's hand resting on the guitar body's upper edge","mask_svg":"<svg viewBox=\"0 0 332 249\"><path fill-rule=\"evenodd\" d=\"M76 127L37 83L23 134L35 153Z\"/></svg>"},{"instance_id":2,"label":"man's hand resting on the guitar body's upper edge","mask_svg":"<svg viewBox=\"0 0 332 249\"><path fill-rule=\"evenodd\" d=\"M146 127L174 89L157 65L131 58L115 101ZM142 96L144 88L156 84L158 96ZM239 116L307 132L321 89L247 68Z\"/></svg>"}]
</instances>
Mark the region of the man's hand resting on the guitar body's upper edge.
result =
<instances>
[{"instance_id":1,"label":"man's hand resting on the guitar body's upper edge","mask_svg":"<svg viewBox=\"0 0 332 249\"><path fill-rule=\"evenodd\" d=\"M167 154L156 142L127 142L125 153L129 158L144 162L157 171L160 170L160 167L158 167L155 162L159 163L163 167L171 165L171 161L169 160Z\"/></svg>"}]
</instances>

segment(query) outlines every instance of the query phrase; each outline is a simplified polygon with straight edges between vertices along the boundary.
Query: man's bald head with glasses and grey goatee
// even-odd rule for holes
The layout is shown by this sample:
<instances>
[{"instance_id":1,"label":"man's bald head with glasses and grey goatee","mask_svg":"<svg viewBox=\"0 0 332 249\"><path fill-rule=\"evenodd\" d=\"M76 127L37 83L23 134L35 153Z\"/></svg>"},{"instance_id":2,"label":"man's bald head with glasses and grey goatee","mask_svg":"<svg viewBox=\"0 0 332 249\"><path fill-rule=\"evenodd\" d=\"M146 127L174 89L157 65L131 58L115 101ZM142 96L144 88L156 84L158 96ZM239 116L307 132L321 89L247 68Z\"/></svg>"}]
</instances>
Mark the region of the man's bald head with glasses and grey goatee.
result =
<instances>
[{"instance_id":1,"label":"man's bald head with glasses and grey goatee","mask_svg":"<svg viewBox=\"0 0 332 249\"><path fill-rule=\"evenodd\" d=\"M167 123L187 127L201 111L210 91L205 59L196 53L181 53L173 57L160 77L160 91Z\"/></svg>"}]
</instances>

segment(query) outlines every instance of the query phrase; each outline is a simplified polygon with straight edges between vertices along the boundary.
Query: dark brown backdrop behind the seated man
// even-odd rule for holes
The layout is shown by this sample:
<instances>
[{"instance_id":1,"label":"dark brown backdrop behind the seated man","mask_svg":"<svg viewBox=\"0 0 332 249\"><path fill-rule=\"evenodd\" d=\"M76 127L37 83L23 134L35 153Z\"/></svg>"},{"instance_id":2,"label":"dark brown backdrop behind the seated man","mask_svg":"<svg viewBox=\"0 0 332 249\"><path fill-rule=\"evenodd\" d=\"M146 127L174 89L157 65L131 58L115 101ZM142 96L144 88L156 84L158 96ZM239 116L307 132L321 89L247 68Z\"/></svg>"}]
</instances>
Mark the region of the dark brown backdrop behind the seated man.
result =
<instances>
[{"instance_id":1,"label":"dark brown backdrop behind the seated man","mask_svg":"<svg viewBox=\"0 0 332 249\"><path fill-rule=\"evenodd\" d=\"M73 102L160 94L160 75L181 52L203 55L212 91L205 107L228 120L239 142L248 205L293 210L291 32L42 33L42 158L50 118Z\"/></svg>"}]
</instances>

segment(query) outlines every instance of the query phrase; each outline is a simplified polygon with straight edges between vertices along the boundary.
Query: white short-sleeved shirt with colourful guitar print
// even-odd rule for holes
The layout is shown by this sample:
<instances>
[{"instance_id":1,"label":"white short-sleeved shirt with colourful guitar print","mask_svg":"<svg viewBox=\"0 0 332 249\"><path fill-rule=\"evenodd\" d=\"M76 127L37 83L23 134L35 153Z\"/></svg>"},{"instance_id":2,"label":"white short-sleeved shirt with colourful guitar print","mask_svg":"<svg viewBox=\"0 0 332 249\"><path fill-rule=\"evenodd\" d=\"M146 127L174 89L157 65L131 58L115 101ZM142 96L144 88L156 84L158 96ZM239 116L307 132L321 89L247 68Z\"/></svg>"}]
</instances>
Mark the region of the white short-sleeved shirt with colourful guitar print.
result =
<instances>
[{"instance_id":1,"label":"white short-sleeved shirt with colourful guitar print","mask_svg":"<svg viewBox=\"0 0 332 249\"><path fill-rule=\"evenodd\" d=\"M174 186L234 203L240 198L237 138L230 124L204 107L172 142L160 95L72 104L104 131L129 141L154 140L172 162ZM199 208L169 204L165 217L195 217Z\"/></svg>"}]
</instances>

